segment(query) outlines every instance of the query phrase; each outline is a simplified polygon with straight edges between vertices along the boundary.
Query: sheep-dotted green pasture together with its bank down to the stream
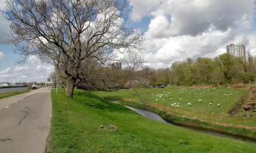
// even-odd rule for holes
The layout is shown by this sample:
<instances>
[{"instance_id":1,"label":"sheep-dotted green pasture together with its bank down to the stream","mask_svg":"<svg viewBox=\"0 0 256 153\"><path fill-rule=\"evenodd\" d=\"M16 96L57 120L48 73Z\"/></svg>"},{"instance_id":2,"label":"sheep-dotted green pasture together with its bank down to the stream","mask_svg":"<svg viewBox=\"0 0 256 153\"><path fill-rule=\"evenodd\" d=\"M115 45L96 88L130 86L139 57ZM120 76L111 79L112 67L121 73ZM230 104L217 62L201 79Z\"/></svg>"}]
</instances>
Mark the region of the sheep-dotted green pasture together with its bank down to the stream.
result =
<instances>
[{"instance_id":1,"label":"sheep-dotted green pasture together with its bank down to the stream","mask_svg":"<svg viewBox=\"0 0 256 153\"><path fill-rule=\"evenodd\" d=\"M125 99L123 104L157 112L169 122L214 129L256 139L256 113L254 112L254 116L251 118L245 119L245 112L241 108L250 93L248 90L172 87L141 89L140 92L143 103L126 90L112 93L95 92L95 94L105 97L105 99L109 99L108 97ZM160 97L159 94L162 96ZM213 102L212 105L209 105L210 101ZM170 106L174 103L180 103L180 106ZM192 106L187 103L191 103ZM221 106L218 107L217 104Z\"/></svg>"}]
</instances>

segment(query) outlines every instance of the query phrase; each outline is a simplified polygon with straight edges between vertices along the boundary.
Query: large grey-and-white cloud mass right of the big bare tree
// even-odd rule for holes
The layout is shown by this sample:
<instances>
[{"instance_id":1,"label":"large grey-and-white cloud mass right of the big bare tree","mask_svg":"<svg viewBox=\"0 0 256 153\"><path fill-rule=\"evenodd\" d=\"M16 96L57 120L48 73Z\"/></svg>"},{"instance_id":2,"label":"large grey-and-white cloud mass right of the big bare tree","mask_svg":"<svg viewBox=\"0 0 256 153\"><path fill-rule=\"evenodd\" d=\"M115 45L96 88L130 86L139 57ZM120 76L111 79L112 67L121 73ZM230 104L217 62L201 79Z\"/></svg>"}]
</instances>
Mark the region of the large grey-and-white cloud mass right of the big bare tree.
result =
<instances>
[{"instance_id":1,"label":"large grey-and-white cloud mass right of the big bare tree","mask_svg":"<svg viewBox=\"0 0 256 153\"><path fill-rule=\"evenodd\" d=\"M242 43L256 55L254 0L130 0L130 5L133 21L151 18L142 52L146 65L161 68L188 57L213 58L225 53L229 43Z\"/></svg>"}]
</instances>

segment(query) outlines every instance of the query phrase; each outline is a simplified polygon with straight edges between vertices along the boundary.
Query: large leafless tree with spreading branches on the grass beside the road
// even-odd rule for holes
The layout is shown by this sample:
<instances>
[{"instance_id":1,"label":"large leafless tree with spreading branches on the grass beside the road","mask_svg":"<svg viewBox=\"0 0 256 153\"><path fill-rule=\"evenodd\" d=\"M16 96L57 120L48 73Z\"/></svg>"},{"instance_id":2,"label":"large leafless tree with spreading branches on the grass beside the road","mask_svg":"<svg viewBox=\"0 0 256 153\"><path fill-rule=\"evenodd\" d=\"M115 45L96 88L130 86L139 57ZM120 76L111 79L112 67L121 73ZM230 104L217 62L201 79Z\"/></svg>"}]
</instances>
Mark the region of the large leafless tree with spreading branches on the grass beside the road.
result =
<instances>
[{"instance_id":1,"label":"large leafless tree with spreading branches on the grass beside the road","mask_svg":"<svg viewBox=\"0 0 256 153\"><path fill-rule=\"evenodd\" d=\"M21 62L34 54L53 64L66 80L66 95L71 98L77 83L96 78L91 70L95 65L115 60L118 53L140 50L143 43L140 32L129 26L127 1L7 0L6 4L10 41L22 54Z\"/></svg>"}]
</instances>

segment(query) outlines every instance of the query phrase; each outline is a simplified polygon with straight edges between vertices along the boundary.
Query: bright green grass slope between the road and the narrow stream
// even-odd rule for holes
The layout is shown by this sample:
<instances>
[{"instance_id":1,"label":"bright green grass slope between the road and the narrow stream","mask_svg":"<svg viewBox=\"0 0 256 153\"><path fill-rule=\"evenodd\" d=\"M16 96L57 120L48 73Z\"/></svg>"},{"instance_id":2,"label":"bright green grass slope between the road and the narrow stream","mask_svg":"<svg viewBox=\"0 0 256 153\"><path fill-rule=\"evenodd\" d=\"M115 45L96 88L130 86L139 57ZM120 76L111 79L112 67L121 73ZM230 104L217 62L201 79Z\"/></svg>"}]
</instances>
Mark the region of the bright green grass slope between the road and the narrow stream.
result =
<instances>
[{"instance_id":1,"label":"bright green grass slope between the road and the narrow stream","mask_svg":"<svg viewBox=\"0 0 256 153\"><path fill-rule=\"evenodd\" d=\"M255 144L152 121L122 105L82 90L74 91L73 100L65 96L63 89L59 90L58 95L52 92L51 96L48 152L256 151ZM100 125L115 125L118 131L102 130L99 129Z\"/></svg>"}]
</instances>

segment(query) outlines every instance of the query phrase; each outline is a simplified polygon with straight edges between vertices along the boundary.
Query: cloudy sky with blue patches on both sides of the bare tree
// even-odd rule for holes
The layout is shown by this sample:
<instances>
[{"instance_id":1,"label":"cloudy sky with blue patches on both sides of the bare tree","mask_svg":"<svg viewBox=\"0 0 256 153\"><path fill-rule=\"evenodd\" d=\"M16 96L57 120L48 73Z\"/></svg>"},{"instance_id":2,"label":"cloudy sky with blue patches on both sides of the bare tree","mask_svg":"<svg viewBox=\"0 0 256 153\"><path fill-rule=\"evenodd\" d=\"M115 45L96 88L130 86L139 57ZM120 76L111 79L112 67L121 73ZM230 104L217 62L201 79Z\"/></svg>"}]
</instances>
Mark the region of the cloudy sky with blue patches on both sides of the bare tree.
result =
<instances>
[{"instance_id":1,"label":"cloudy sky with blue patches on both sides of the bare tree","mask_svg":"<svg viewBox=\"0 0 256 153\"><path fill-rule=\"evenodd\" d=\"M254 0L130 0L130 6L131 25L143 32L141 54L150 67L166 68L187 57L213 58L229 43L244 44L256 56ZM15 65L19 55L12 52L8 27L0 15L0 82L45 81L53 69L37 57Z\"/></svg>"}]
</instances>

